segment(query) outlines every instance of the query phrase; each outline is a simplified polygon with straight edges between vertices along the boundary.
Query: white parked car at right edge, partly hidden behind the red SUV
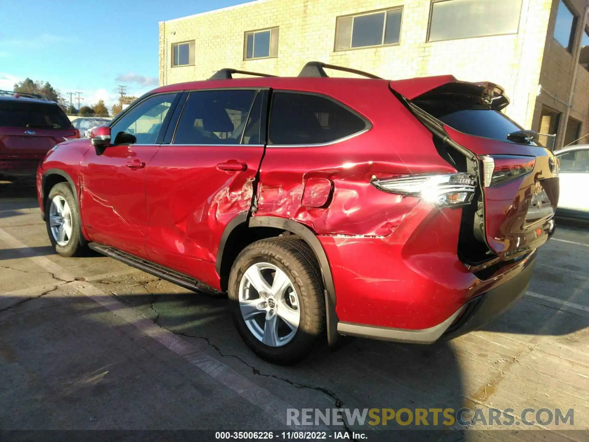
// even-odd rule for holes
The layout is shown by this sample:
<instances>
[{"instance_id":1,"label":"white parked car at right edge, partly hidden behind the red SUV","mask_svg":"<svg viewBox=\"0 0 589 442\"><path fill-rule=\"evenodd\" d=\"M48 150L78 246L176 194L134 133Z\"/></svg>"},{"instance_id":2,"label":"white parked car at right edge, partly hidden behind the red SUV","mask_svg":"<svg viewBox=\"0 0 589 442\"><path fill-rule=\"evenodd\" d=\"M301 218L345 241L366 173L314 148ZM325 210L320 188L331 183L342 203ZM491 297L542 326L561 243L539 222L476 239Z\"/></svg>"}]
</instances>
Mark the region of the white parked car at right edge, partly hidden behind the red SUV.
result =
<instances>
[{"instance_id":1,"label":"white parked car at right edge, partly hidden behind the red SUV","mask_svg":"<svg viewBox=\"0 0 589 442\"><path fill-rule=\"evenodd\" d=\"M554 154L560 161L558 212L589 219L589 144L565 147Z\"/></svg>"}]
</instances>

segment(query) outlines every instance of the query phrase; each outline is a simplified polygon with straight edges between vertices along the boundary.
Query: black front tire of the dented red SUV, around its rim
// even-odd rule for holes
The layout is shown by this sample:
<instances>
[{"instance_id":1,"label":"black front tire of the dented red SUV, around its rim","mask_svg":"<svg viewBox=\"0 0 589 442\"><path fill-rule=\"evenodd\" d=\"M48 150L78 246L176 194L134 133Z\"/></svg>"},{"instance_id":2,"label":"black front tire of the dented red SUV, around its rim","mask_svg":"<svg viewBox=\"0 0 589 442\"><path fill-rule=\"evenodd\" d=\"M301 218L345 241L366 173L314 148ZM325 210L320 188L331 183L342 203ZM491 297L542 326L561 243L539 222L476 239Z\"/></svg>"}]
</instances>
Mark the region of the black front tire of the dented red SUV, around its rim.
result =
<instances>
[{"instance_id":1,"label":"black front tire of the dented red SUV, around its rim","mask_svg":"<svg viewBox=\"0 0 589 442\"><path fill-rule=\"evenodd\" d=\"M49 222L49 209L51 208L51 202L56 196L61 196L65 199L70 206L71 211L71 223L72 223L72 235L68 239L67 244L59 245L51 233L51 225ZM45 203L45 226L47 226L47 235L51 241L51 245L55 248L61 256L82 256L87 253L87 241L82 235L81 223L80 223L80 209L76 203L74 193L72 193L70 184L68 183L57 183L51 188L47 195L47 202Z\"/></svg>"}]
</instances>

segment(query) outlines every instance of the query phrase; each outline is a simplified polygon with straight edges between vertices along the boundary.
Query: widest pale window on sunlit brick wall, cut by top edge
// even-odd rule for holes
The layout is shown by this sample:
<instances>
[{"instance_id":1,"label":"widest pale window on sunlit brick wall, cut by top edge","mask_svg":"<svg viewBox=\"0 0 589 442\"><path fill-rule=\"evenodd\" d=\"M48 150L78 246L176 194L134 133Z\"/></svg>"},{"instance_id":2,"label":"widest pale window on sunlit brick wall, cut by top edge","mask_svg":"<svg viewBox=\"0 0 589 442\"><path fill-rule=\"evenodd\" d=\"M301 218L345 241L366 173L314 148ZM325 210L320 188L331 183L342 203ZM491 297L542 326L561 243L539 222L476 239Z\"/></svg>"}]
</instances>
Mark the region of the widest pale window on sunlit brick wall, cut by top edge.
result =
<instances>
[{"instance_id":1,"label":"widest pale window on sunlit brick wall, cut by top edge","mask_svg":"<svg viewBox=\"0 0 589 442\"><path fill-rule=\"evenodd\" d=\"M521 0L438 0L432 2L428 41L515 34Z\"/></svg>"}]
</instances>

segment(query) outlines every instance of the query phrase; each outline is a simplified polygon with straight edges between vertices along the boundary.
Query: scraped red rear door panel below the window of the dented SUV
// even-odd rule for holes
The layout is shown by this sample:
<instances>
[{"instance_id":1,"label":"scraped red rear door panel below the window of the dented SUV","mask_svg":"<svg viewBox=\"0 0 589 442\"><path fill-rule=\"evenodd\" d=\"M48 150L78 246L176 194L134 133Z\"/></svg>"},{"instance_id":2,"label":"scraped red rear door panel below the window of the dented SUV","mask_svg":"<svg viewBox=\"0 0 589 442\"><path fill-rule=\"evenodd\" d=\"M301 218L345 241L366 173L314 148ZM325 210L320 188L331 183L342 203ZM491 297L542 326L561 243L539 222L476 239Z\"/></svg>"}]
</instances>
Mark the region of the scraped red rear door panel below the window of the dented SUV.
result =
<instances>
[{"instance_id":1,"label":"scraped red rear door panel below the window of the dented SUV","mask_svg":"<svg viewBox=\"0 0 589 442\"><path fill-rule=\"evenodd\" d=\"M263 152L263 146L161 146L145 180L149 258L219 288L219 241L231 219L250 209ZM247 169L217 168L227 161Z\"/></svg>"}]
</instances>

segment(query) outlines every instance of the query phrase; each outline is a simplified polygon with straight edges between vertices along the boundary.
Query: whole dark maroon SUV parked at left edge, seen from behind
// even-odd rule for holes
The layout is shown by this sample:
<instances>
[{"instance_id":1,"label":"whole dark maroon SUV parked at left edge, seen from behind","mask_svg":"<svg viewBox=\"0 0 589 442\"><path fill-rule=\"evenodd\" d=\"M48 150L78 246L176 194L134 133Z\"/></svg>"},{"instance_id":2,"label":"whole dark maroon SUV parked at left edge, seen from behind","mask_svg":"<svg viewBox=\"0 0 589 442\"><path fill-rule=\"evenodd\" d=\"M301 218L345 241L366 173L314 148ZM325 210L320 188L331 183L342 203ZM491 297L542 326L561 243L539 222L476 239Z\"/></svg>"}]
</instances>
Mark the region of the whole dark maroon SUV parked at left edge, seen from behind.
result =
<instances>
[{"instance_id":1,"label":"whole dark maroon SUV parked at left edge, seen from behind","mask_svg":"<svg viewBox=\"0 0 589 442\"><path fill-rule=\"evenodd\" d=\"M64 111L44 95L0 91L0 179L35 177L55 144L80 138Z\"/></svg>"}]
</instances>

